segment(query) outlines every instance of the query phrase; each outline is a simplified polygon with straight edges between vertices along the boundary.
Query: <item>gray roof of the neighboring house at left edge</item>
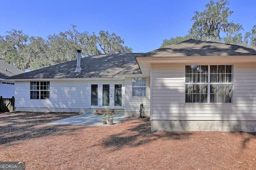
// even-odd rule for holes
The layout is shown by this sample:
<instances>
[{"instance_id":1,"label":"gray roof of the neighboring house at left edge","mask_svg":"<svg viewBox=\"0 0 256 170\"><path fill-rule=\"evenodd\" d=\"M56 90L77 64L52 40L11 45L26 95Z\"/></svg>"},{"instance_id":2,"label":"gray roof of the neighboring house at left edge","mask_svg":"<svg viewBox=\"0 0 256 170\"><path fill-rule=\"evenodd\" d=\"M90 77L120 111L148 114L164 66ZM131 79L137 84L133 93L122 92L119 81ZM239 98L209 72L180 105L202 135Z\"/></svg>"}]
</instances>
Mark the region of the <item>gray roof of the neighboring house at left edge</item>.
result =
<instances>
[{"instance_id":1,"label":"gray roof of the neighboring house at left edge","mask_svg":"<svg viewBox=\"0 0 256 170\"><path fill-rule=\"evenodd\" d=\"M16 67L0 61L0 79L5 79L6 77L24 73L24 71L17 69Z\"/></svg>"}]
</instances>

